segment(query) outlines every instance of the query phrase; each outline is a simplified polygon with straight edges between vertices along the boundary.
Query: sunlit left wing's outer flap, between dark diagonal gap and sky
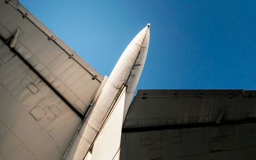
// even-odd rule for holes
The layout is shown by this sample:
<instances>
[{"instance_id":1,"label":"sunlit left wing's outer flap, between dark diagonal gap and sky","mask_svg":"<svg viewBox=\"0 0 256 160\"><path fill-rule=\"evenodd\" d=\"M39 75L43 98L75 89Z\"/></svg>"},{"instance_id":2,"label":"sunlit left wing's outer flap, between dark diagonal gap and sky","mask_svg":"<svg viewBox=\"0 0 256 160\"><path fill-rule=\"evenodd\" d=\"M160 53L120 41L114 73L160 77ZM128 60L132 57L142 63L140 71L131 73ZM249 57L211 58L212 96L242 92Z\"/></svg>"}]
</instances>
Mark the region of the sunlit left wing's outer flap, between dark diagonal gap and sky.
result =
<instances>
[{"instance_id":1,"label":"sunlit left wing's outer flap, between dark diagonal gap and sky","mask_svg":"<svg viewBox=\"0 0 256 160\"><path fill-rule=\"evenodd\" d=\"M8 40L18 29L19 35L15 35L13 46L15 51L83 115L100 86L102 76L24 6L11 3L0 1L1 37Z\"/></svg>"}]
</instances>

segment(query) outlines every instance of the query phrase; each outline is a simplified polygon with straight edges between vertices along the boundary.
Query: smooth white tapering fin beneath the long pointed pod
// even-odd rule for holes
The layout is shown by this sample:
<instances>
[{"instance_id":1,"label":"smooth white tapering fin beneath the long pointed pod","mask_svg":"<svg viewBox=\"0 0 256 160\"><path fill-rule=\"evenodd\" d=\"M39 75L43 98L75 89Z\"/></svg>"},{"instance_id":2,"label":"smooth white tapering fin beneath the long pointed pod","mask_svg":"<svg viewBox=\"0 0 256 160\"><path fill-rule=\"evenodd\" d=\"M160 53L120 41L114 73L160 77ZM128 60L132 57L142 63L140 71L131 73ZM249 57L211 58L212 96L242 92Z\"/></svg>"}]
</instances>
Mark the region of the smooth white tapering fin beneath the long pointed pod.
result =
<instances>
[{"instance_id":1,"label":"smooth white tapering fin beneath the long pointed pod","mask_svg":"<svg viewBox=\"0 0 256 160\"><path fill-rule=\"evenodd\" d=\"M119 159L125 103L125 88L108 116L92 150L92 160Z\"/></svg>"}]
</instances>

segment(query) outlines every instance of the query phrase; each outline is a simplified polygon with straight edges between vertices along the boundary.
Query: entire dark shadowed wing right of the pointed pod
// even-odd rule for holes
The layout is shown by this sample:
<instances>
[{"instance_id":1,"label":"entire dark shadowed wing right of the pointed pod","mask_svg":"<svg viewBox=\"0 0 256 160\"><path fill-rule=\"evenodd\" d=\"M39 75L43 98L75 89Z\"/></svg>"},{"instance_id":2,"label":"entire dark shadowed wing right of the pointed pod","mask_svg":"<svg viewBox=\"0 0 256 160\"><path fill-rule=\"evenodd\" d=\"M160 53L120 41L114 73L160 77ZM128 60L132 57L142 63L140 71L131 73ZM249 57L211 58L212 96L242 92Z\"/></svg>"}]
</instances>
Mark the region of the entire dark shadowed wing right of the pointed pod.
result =
<instances>
[{"instance_id":1,"label":"entire dark shadowed wing right of the pointed pod","mask_svg":"<svg viewBox=\"0 0 256 160\"><path fill-rule=\"evenodd\" d=\"M120 159L256 159L255 95L139 90L125 118Z\"/></svg>"}]
</instances>

